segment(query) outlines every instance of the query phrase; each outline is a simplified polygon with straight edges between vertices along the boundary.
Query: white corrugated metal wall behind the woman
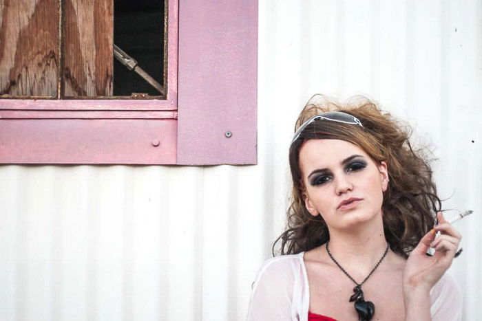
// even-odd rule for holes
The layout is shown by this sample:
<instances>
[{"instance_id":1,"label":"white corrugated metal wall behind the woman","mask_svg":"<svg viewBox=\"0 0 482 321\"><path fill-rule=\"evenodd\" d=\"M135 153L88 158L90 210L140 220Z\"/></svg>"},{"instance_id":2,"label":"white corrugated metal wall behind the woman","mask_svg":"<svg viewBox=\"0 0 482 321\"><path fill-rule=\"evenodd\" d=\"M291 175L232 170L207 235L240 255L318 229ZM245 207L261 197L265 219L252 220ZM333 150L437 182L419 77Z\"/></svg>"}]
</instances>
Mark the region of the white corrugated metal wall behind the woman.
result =
<instances>
[{"instance_id":1,"label":"white corrugated metal wall behind the woman","mask_svg":"<svg viewBox=\"0 0 482 321\"><path fill-rule=\"evenodd\" d=\"M481 320L481 1L260 0L257 166L0 166L0 320L243 320L313 93L364 93L434 146Z\"/></svg>"}]
</instances>

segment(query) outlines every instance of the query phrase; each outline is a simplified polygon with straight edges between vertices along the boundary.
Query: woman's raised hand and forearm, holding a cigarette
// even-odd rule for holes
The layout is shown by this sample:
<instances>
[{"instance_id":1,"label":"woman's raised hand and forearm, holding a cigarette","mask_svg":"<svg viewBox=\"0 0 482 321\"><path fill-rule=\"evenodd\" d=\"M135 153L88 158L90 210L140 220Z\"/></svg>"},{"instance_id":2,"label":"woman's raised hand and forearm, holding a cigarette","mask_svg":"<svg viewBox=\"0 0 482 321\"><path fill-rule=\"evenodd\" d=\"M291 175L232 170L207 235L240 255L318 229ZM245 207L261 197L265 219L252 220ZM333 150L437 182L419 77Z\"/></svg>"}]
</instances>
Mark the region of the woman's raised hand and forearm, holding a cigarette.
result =
<instances>
[{"instance_id":1,"label":"woman's raised hand and forearm, holding a cigarette","mask_svg":"<svg viewBox=\"0 0 482 321\"><path fill-rule=\"evenodd\" d=\"M452 264L461 235L437 213L439 225L420 240L408 256L404 269L404 299L406 320L430 320L430 289ZM440 235L436 237L436 232ZM429 247L435 254L427 256Z\"/></svg>"}]
</instances>

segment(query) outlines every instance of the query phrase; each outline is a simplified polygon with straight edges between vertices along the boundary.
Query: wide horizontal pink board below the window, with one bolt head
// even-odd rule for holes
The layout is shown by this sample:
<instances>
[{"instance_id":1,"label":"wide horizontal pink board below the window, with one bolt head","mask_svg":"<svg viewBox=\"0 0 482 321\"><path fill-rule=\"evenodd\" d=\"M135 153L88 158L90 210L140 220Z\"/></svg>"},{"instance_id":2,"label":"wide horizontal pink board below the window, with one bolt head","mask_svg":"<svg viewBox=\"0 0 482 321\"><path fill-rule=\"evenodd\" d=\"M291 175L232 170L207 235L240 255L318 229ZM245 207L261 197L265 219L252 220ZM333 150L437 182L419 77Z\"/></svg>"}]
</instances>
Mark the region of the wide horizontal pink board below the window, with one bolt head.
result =
<instances>
[{"instance_id":1,"label":"wide horizontal pink board below the window, with one bolt head","mask_svg":"<svg viewBox=\"0 0 482 321\"><path fill-rule=\"evenodd\" d=\"M0 120L14 164L176 164L176 120Z\"/></svg>"}]
</instances>

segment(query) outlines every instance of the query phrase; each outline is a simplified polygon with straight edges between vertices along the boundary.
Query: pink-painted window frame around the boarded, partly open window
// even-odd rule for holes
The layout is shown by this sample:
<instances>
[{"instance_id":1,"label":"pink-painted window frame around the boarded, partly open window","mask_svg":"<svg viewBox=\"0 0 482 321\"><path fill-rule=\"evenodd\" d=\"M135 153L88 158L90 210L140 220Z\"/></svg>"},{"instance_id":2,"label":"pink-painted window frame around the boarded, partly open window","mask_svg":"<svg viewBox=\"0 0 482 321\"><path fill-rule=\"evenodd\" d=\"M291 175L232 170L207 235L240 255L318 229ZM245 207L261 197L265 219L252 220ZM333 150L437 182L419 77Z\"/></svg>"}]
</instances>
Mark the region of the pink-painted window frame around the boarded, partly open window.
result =
<instances>
[{"instance_id":1,"label":"pink-painted window frame around the boarded, partly open window","mask_svg":"<svg viewBox=\"0 0 482 321\"><path fill-rule=\"evenodd\" d=\"M255 164L258 0L168 10L166 100L0 100L0 163Z\"/></svg>"}]
</instances>

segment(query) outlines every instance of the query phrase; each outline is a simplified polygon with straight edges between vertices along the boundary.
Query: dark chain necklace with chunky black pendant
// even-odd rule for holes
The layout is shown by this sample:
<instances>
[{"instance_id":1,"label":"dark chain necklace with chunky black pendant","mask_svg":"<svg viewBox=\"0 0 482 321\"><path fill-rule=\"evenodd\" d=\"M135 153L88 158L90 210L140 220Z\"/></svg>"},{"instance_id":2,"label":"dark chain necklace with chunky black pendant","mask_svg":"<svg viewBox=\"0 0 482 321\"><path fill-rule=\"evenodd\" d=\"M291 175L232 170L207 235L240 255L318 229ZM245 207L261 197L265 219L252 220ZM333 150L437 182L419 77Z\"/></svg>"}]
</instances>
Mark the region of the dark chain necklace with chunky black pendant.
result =
<instances>
[{"instance_id":1,"label":"dark chain necklace with chunky black pendant","mask_svg":"<svg viewBox=\"0 0 482 321\"><path fill-rule=\"evenodd\" d=\"M383 256L381 256L377 265L375 265L375 267L368 274L368 276L366 276L366 278L362 281L362 283L357 283L357 281L355 281L355 279L352 278L350 276L350 274L348 274L348 272L346 272L346 270L342 267L342 265L339 265L339 263L335 260L333 255L331 255L330 249L328 248L328 242L326 242L326 252L328 252L328 256L330 256L331 261L333 261L337 265L337 267L339 267L339 269L341 269L342 272L346 276L348 276L348 278L350 278L350 280L352 280L353 283L355 283L355 285L356 285L353 288L354 294L352 294L352 296L350 296L350 302L355 301L355 310L358 313L358 320L359 321L370 321L371 318L373 317L373 315L375 314L375 305L373 304L373 302L365 301L365 298L363 296L363 291L362 291L362 285L364 285L366 280L368 280L368 278L370 278L370 276L372 276L373 272L375 272L375 269L377 269L377 267L380 265L381 261L384 261L384 258L386 256L386 254L388 253L389 249L390 249L390 245L388 245L388 243L386 243L385 253L384 253Z\"/></svg>"}]
</instances>

